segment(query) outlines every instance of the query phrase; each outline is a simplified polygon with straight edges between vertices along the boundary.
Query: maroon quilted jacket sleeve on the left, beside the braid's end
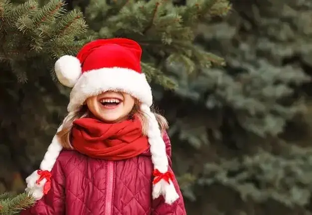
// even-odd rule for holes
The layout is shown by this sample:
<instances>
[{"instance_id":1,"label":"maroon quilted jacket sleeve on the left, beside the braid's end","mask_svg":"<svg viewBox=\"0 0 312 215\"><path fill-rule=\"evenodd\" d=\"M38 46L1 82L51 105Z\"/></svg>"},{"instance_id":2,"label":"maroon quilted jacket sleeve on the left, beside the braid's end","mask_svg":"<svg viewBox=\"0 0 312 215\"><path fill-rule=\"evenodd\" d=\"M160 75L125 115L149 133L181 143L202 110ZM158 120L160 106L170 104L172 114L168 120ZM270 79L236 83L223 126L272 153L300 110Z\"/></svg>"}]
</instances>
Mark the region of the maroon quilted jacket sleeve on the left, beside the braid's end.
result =
<instances>
[{"instance_id":1,"label":"maroon quilted jacket sleeve on the left, beside the braid's end","mask_svg":"<svg viewBox=\"0 0 312 215\"><path fill-rule=\"evenodd\" d=\"M52 170L51 189L31 208L20 215L65 215L64 174L60 162L56 160Z\"/></svg>"}]
</instances>

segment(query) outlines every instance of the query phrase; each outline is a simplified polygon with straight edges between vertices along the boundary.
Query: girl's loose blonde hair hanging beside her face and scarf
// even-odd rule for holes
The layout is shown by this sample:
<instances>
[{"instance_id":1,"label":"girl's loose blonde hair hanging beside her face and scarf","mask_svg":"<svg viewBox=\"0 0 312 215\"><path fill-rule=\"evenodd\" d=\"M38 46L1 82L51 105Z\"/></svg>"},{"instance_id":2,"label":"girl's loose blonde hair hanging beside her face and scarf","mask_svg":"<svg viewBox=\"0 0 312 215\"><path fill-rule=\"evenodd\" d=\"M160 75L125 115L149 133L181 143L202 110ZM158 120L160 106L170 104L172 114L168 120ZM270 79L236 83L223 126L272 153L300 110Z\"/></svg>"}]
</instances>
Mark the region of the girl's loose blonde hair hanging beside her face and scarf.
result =
<instances>
[{"instance_id":1,"label":"girl's loose blonde hair hanging beside her face and scarf","mask_svg":"<svg viewBox=\"0 0 312 215\"><path fill-rule=\"evenodd\" d=\"M168 129L167 120L163 116L161 116L160 114L156 113L156 111L153 108L151 111L155 114L156 120L157 120L158 125L159 125L160 132L161 132L161 134L163 134ZM72 112L69 112L67 114L67 116L65 117L65 119L63 121L62 129L56 133L56 136L57 136L59 142L61 143L61 145L64 148L72 148L72 146L70 144L70 136L71 136L71 131L73 128L73 121L76 119L87 117L88 113L89 113L89 109L86 105L84 105L84 106L82 106L82 108L80 108L80 110L72 111ZM139 102L137 102L137 101L136 101L132 111L129 114L129 118L131 118L133 116L136 116L139 118L139 120L141 121L141 124L142 124L142 133L144 136L147 136L148 126L149 126L148 117L140 109Z\"/></svg>"}]
</instances>

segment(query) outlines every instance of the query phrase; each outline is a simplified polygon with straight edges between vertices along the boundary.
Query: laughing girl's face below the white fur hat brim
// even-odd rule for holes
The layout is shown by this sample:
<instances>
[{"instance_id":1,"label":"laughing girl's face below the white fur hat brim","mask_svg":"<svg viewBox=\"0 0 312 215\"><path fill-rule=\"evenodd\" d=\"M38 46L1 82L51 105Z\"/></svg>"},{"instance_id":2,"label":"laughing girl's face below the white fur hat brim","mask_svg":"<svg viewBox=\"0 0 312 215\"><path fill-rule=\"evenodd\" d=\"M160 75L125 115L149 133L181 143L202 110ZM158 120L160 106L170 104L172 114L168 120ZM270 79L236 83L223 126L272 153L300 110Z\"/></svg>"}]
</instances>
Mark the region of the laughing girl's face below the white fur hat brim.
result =
<instances>
[{"instance_id":1,"label":"laughing girl's face below the white fur hat brim","mask_svg":"<svg viewBox=\"0 0 312 215\"><path fill-rule=\"evenodd\" d=\"M123 92L107 91L86 100L92 114L106 123L118 123L128 118L135 99Z\"/></svg>"}]
</instances>

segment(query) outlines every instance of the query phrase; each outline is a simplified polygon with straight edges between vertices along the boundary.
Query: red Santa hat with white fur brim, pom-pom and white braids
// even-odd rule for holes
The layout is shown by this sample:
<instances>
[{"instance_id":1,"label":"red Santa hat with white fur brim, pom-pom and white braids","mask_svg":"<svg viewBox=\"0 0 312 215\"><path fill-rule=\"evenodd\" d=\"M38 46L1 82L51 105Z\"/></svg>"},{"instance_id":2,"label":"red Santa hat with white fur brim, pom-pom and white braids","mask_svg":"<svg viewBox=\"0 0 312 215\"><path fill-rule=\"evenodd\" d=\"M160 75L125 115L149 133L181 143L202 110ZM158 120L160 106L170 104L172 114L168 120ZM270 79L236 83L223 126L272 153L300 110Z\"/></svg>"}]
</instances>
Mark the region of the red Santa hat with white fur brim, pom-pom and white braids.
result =
<instances>
[{"instance_id":1,"label":"red Santa hat with white fur brim, pom-pom and white braids","mask_svg":"<svg viewBox=\"0 0 312 215\"><path fill-rule=\"evenodd\" d=\"M168 159L158 123L150 107L153 104L151 87L141 70L142 49L130 39L100 39L86 44L76 57L62 56L55 63L59 81L72 87L68 112L81 108L85 100L109 90L126 92L141 102L141 110L148 116L148 140L150 143L154 175L153 199L163 195L167 204L178 199L168 173ZM62 125L58 129L61 130ZM26 191L38 200L46 193L51 169L62 150L56 136L53 137L40 164L40 170L26 178Z\"/></svg>"}]
</instances>

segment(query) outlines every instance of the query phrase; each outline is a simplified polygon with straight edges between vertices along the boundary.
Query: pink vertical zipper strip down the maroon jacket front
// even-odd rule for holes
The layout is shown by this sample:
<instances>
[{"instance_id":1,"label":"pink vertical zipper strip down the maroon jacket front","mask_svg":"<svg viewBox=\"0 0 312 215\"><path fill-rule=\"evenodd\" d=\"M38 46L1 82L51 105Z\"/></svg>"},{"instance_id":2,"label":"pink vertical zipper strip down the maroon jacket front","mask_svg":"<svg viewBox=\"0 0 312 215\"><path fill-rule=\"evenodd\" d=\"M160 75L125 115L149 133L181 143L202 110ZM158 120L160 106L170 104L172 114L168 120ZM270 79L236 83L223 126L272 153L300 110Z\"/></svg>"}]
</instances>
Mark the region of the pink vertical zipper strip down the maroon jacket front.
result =
<instances>
[{"instance_id":1,"label":"pink vertical zipper strip down the maroon jacket front","mask_svg":"<svg viewBox=\"0 0 312 215\"><path fill-rule=\"evenodd\" d=\"M113 206L113 186L114 186L114 161L107 161L107 173L106 173L106 210L105 215L112 214Z\"/></svg>"}]
</instances>

